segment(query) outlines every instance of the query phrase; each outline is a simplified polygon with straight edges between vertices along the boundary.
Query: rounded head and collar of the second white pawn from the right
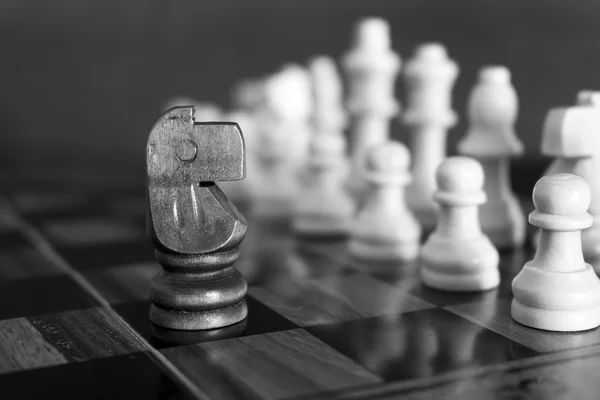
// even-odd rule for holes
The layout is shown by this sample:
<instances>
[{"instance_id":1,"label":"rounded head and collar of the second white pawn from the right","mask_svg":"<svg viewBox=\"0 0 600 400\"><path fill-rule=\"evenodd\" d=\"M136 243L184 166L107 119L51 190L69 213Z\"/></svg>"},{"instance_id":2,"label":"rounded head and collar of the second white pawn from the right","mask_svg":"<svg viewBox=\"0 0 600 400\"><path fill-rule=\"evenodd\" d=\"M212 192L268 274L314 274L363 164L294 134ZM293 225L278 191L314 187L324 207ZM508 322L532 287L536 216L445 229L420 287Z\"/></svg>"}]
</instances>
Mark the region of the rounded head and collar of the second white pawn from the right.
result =
<instances>
[{"instance_id":1,"label":"rounded head and collar of the second white pawn from the right","mask_svg":"<svg viewBox=\"0 0 600 400\"><path fill-rule=\"evenodd\" d=\"M448 205L477 205L485 202L484 172L469 157L448 157L437 169L436 200Z\"/></svg>"}]
</instances>

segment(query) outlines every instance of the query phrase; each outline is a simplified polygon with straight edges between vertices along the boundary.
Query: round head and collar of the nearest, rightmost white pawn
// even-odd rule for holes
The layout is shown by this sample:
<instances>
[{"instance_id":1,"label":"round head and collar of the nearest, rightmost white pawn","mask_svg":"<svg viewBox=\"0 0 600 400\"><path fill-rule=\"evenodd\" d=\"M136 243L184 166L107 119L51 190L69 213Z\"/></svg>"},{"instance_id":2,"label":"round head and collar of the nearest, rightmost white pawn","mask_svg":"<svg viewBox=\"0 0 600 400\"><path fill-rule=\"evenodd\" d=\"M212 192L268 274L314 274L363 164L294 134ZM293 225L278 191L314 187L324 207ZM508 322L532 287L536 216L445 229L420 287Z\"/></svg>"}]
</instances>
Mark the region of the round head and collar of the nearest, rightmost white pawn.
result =
<instances>
[{"instance_id":1,"label":"round head and collar of the nearest, rightmost white pawn","mask_svg":"<svg viewBox=\"0 0 600 400\"><path fill-rule=\"evenodd\" d=\"M538 228L574 231L592 225L587 210L592 201L590 185L572 174L552 174L542 177L533 188L535 211L529 222Z\"/></svg>"}]
</instances>

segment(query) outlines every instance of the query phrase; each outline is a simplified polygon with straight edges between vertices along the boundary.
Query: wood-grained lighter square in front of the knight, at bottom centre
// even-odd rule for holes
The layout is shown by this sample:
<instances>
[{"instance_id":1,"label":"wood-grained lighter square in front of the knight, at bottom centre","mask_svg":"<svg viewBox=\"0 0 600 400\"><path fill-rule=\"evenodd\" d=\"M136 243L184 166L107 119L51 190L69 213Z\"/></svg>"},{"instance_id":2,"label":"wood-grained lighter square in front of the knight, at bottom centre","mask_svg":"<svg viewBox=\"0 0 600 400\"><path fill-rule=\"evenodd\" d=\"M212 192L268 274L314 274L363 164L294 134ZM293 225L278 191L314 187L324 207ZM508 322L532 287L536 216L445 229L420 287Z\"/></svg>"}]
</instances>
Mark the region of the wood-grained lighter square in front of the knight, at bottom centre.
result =
<instances>
[{"instance_id":1,"label":"wood-grained lighter square in front of the knight, at bottom centre","mask_svg":"<svg viewBox=\"0 0 600 400\"><path fill-rule=\"evenodd\" d=\"M279 399L376 383L301 329L163 350L211 398Z\"/></svg>"}]
</instances>

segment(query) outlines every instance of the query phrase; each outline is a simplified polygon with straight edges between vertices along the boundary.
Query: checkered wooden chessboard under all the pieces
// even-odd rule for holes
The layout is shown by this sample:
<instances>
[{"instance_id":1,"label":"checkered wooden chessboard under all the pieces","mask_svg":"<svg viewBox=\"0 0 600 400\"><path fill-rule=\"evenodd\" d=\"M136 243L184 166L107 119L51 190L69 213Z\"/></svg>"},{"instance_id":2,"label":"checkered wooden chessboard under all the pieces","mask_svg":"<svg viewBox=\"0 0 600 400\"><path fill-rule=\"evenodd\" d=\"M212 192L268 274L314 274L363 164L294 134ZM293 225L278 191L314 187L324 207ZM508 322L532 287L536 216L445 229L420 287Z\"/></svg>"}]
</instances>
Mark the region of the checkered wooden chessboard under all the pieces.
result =
<instances>
[{"instance_id":1,"label":"checkered wooden chessboard under all the pieces","mask_svg":"<svg viewBox=\"0 0 600 400\"><path fill-rule=\"evenodd\" d=\"M78 168L1 177L2 398L597 398L599 329L546 332L511 318L511 281L530 249L501 253L497 289L452 294L424 287L416 263L361 262L344 241L249 217L236 262L248 318L217 331L153 326L160 266L139 178Z\"/></svg>"}]
</instances>

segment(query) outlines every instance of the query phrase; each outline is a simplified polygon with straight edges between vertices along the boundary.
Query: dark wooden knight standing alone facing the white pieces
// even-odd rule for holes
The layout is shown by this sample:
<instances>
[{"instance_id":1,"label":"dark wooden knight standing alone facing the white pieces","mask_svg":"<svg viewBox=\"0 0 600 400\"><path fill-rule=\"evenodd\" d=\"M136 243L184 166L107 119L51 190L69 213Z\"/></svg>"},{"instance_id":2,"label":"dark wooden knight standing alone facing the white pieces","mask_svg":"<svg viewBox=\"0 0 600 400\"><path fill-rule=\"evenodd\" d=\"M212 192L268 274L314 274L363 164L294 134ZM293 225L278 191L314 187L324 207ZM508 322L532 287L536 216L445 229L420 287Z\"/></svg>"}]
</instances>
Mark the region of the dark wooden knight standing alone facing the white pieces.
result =
<instances>
[{"instance_id":1,"label":"dark wooden knight standing alone facing the white pieces","mask_svg":"<svg viewBox=\"0 0 600 400\"><path fill-rule=\"evenodd\" d=\"M195 123L173 108L147 144L148 233L163 271L150 289L150 320L164 328L215 329L246 318L246 281L232 267L246 221L215 181L244 178L237 124Z\"/></svg>"}]
</instances>

